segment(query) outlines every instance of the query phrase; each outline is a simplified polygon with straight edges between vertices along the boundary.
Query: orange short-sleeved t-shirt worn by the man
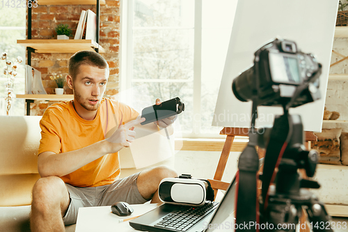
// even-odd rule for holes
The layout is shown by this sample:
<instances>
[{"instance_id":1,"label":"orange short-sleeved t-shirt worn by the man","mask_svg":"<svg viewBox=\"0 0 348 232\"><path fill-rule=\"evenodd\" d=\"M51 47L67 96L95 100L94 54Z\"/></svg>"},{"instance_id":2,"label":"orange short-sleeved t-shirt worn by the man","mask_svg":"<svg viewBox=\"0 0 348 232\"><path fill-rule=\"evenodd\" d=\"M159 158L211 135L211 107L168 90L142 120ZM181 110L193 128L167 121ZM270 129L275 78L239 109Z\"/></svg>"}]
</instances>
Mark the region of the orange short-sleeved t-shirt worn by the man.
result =
<instances>
[{"instance_id":1,"label":"orange short-sleeved t-shirt worn by the man","mask_svg":"<svg viewBox=\"0 0 348 232\"><path fill-rule=\"evenodd\" d=\"M69 102L51 105L40 120L41 140L38 154L56 154L84 148L109 137L119 125L134 120L139 113L121 102L102 98L93 121L81 118ZM77 187L109 185L120 176L118 153L107 154L84 167L62 176Z\"/></svg>"}]
</instances>

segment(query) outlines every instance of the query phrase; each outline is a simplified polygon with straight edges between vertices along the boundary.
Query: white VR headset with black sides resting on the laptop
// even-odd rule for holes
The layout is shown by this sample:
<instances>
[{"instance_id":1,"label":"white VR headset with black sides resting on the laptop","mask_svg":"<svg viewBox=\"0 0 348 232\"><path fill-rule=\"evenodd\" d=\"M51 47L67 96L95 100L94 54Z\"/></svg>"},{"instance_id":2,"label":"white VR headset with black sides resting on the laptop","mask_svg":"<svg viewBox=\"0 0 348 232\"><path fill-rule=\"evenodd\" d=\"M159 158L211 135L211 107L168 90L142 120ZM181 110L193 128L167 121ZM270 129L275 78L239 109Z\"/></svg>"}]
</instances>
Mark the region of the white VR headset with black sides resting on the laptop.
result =
<instances>
[{"instance_id":1,"label":"white VR headset with black sides resting on the laptop","mask_svg":"<svg viewBox=\"0 0 348 232\"><path fill-rule=\"evenodd\" d=\"M175 205L203 206L205 201L214 201L214 191L209 181L192 179L187 174L161 180L158 194L163 203Z\"/></svg>"}]
</instances>

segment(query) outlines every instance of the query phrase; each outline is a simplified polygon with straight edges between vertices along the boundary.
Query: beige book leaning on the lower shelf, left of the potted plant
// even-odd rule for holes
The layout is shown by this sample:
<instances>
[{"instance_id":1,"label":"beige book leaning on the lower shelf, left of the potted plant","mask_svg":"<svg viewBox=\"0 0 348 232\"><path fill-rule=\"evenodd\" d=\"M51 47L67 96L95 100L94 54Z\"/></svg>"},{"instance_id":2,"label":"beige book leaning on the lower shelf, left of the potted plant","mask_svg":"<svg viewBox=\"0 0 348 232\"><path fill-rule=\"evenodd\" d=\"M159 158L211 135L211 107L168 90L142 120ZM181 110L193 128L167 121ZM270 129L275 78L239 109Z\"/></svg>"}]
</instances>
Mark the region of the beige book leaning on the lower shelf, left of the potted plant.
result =
<instances>
[{"instance_id":1,"label":"beige book leaning on the lower shelf, left of the potted plant","mask_svg":"<svg viewBox=\"0 0 348 232\"><path fill-rule=\"evenodd\" d=\"M47 94L42 85L41 72L30 65L25 67L26 94Z\"/></svg>"}]
</instances>

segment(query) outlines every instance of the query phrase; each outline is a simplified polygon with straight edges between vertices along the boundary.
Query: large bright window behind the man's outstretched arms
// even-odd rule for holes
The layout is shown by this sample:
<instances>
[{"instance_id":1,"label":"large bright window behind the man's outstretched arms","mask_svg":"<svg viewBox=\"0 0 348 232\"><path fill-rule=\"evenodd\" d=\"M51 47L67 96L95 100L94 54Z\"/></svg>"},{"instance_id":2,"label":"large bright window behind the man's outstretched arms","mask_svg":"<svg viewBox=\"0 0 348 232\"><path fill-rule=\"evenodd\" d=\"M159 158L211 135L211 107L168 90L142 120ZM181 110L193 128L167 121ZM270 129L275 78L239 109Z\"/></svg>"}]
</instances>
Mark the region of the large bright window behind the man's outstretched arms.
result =
<instances>
[{"instance_id":1,"label":"large bright window behind the man's outstretched arms","mask_svg":"<svg viewBox=\"0 0 348 232\"><path fill-rule=\"evenodd\" d=\"M211 125L236 5L122 1L121 90L146 85L152 102L180 97L183 136L219 137Z\"/></svg>"}]
</instances>

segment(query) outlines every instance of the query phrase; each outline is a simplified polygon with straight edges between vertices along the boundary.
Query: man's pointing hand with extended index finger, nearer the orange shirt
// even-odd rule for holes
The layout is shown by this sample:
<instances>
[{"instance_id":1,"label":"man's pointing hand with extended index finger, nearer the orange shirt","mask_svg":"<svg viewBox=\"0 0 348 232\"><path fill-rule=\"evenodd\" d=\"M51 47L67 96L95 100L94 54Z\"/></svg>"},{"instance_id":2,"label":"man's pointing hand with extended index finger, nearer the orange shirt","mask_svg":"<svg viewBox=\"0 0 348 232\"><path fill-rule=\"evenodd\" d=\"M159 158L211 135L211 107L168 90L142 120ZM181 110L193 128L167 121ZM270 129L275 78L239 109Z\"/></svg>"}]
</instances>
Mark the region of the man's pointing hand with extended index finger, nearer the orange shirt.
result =
<instances>
[{"instance_id":1,"label":"man's pointing hand with extended index finger, nearer the orange shirt","mask_svg":"<svg viewBox=\"0 0 348 232\"><path fill-rule=\"evenodd\" d=\"M111 137L106 139L106 141L109 142L109 153L116 153L122 148L129 147L130 143L134 141L136 134L136 132L134 132L132 128L134 127L134 125L138 125L143 121L145 121L145 118L139 118L118 127L116 132L113 132Z\"/></svg>"}]
</instances>

